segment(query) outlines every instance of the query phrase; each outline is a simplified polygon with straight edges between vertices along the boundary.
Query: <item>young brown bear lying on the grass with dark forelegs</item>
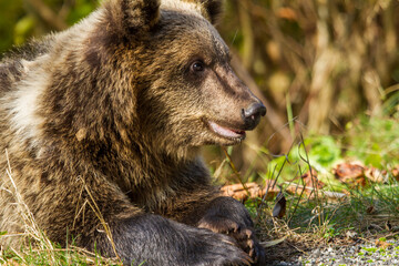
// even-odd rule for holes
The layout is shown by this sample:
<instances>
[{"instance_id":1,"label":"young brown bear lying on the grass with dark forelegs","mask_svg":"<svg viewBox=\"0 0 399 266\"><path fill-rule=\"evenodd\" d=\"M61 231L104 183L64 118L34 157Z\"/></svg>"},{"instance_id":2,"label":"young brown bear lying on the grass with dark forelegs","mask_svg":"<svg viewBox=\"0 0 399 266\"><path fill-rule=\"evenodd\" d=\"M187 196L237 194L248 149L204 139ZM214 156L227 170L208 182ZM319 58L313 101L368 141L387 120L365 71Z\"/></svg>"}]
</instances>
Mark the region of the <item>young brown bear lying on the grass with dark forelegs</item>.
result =
<instances>
[{"instance_id":1,"label":"young brown bear lying on the grass with dark forelegs","mask_svg":"<svg viewBox=\"0 0 399 266\"><path fill-rule=\"evenodd\" d=\"M51 241L73 236L124 264L265 264L248 212L198 155L242 142L266 112L229 66L213 27L221 9L109 0L2 60L1 185L9 162ZM0 231L23 232L10 190L0 193Z\"/></svg>"}]
</instances>

